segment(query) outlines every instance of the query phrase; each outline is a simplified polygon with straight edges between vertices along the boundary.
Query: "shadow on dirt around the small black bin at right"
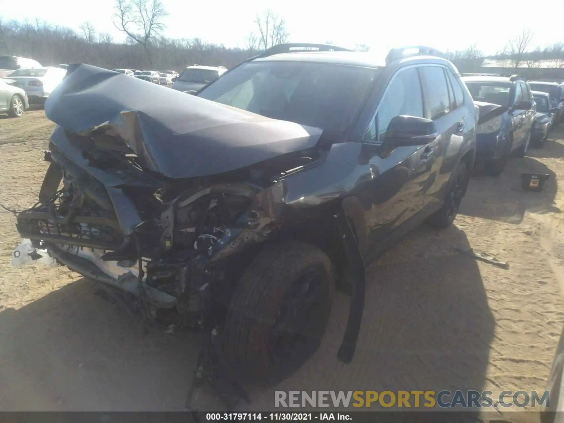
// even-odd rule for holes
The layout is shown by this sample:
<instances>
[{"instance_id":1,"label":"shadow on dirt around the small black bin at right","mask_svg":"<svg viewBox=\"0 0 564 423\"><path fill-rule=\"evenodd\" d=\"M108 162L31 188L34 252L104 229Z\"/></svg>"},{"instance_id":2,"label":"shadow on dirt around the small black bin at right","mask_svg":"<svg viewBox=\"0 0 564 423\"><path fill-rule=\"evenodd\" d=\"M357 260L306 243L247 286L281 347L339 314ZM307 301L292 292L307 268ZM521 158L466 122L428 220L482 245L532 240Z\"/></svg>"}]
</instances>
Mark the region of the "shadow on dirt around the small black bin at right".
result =
<instances>
[{"instance_id":1,"label":"shadow on dirt around the small black bin at right","mask_svg":"<svg viewBox=\"0 0 564 423\"><path fill-rule=\"evenodd\" d=\"M521 173L548 174L549 179L541 192L523 191ZM554 206L557 190L556 174L533 157L512 158L497 178L484 175L477 166L470 178L465 200L460 205L460 213L518 224L523 221L527 210L533 213L559 213L560 210Z\"/></svg>"}]
</instances>

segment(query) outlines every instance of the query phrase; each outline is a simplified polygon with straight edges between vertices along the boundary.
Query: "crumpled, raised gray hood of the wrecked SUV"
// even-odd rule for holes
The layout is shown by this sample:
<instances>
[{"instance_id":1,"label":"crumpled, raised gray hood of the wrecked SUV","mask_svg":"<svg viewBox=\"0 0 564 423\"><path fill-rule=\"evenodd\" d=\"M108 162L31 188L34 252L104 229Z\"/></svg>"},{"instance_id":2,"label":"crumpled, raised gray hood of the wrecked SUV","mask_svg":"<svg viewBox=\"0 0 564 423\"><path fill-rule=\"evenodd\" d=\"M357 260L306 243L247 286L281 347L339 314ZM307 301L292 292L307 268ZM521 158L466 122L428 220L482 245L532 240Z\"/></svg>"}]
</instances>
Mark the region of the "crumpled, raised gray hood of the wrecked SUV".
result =
<instances>
[{"instance_id":1,"label":"crumpled, raised gray hood of the wrecked SUV","mask_svg":"<svg viewBox=\"0 0 564 423\"><path fill-rule=\"evenodd\" d=\"M169 178L224 173L298 152L314 147L322 132L85 64L52 92L45 113L71 133L125 142L143 166Z\"/></svg>"}]
</instances>

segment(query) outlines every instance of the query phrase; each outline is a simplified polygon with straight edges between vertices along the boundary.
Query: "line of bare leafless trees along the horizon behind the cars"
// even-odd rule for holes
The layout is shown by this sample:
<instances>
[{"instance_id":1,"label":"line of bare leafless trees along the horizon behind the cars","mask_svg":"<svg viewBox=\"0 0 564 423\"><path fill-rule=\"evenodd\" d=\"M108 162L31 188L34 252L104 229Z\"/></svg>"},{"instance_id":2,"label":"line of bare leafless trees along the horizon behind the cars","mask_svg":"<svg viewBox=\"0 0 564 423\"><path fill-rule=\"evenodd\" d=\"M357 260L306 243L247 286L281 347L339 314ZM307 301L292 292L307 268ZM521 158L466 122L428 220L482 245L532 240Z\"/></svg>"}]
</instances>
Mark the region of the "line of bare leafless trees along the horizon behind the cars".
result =
<instances>
[{"instance_id":1,"label":"line of bare leafless trees along the horizon behind the cars","mask_svg":"<svg viewBox=\"0 0 564 423\"><path fill-rule=\"evenodd\" d=\"M241 48L228 48L200 38L165 37L162 32L167 15L161 0L115 0L112 21L125 34L125 42L97 32L88 21L73 30L39 19L2 21L0 17L0 54L33 58L43 65L55 66L89 63L108 69L182 70L187 65L205 64L230 68L289 39L285 20L270 10L257 14L255 30ZM486 56L476 46L470 46L466 50L447 51L445 56L464 69L479 68L486 59L505 59L511 67L531 68L549 60L550 67L564 68L564 43L531 49L533 39L534 33L523 30L495 55ZM355 50L368 51L369 46L358 44Z\"/></svg>"}]
</instances>

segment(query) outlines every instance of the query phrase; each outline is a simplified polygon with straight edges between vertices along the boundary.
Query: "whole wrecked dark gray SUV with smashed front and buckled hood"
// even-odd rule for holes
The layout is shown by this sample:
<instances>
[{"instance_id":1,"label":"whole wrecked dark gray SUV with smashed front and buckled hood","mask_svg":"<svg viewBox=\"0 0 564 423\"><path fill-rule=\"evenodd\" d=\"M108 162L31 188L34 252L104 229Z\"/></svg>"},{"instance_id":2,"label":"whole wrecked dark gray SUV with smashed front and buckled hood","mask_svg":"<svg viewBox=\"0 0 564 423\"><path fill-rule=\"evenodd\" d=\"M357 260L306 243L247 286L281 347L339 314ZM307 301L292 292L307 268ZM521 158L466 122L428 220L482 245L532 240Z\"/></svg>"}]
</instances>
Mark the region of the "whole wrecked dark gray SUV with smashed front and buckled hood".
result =
<instances>
[{"instance_id":1,"label":"whole wrecked dark gray SUV with smashed front and buckled hood","mask_svg":"<svg viewBox=\"0 0 564 423\"><path fill-rule=\"evenodd\" d=\"M261 384L316 350L336 284L351 360L365 263L453 222L476 148L472 97L428 47L280 45L195 95L81 65L45 112L50 166L21 236L147 321L208 329Z\"/></svg>"}]
</instances>

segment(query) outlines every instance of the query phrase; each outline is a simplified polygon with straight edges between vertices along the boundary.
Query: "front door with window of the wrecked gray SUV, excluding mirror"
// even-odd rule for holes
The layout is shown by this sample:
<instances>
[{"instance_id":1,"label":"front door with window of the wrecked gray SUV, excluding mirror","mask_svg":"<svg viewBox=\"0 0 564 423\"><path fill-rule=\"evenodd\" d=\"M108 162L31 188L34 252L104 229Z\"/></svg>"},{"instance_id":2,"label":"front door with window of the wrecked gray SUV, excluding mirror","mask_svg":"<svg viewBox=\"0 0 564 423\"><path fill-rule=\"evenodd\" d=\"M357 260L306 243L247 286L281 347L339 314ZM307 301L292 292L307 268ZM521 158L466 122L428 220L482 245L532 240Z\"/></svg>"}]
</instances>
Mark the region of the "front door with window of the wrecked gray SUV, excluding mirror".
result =
<instances>
[{"instance_id":1,"label":"front door with window of the wrecked gray SUV, excluding mirror","mask_svg":"<svg viewBox=\"0 0 564 423\"><path fill-rule=\"evenodd\" d=\"M367 261L381 252L384 241L394 231L421 210L434 161L435 141L426 146L398 147L387 157L378 154L377 147L391 119L400 115L425 117L415 67L400 69L394 75L364 138L364 160L373 177L363 182L357 195L365 210Z\"/></svg>"}]
</instances>

